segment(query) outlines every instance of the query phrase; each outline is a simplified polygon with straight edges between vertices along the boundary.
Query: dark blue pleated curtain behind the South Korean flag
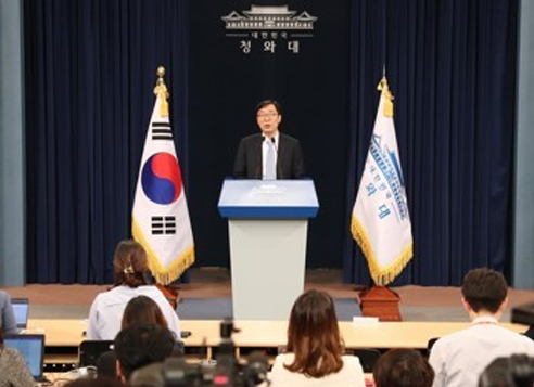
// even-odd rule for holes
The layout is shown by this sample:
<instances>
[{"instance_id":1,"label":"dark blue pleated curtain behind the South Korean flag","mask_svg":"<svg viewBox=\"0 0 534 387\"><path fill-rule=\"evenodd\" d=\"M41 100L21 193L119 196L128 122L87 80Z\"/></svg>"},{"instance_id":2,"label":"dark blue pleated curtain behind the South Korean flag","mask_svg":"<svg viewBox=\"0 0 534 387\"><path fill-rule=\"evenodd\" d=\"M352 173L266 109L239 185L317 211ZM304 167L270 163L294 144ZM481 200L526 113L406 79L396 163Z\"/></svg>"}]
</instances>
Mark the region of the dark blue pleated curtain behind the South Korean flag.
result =
<instances>
[{"instance_id":1,"label":"dark blue pleated curtain behind the South Korean flag","mask_svg":"<svg viewBox=\"0 0 534 387\"><path fill-rule=\"evenodd\" d=\"M188 186L187 2L25 1L28 282L103 283L131 205L156 68Z\"/></svg>"}]
</instances>

